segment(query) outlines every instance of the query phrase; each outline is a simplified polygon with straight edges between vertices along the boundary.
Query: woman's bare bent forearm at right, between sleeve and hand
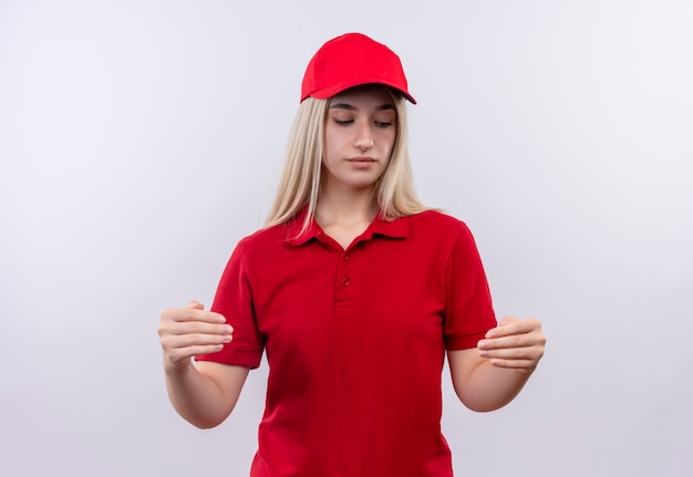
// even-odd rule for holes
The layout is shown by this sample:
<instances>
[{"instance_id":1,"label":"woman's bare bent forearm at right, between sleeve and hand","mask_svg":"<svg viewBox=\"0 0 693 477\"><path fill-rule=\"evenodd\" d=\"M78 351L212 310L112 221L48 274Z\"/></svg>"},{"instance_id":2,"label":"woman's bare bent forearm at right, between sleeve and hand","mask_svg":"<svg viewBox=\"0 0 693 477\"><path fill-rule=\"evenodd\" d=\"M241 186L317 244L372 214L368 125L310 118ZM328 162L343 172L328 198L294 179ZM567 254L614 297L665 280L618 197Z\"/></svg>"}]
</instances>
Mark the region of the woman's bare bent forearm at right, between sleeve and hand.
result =
<instances>
[{"instance_id":1,"label":"woman's bare bent forearm at right, between sleeve and hand","mask_svg":"<svg viewBox=\"0 0 693 477\"><path fill-rule=\"evenodd\" d=\"M458 386L459 388L456 386L455 391L469 409L489 412L513 401L529 376L529 373L496 367L489 360L483 360L466 380L457 381L464 384Z\"/></svg>"}]
</instances>

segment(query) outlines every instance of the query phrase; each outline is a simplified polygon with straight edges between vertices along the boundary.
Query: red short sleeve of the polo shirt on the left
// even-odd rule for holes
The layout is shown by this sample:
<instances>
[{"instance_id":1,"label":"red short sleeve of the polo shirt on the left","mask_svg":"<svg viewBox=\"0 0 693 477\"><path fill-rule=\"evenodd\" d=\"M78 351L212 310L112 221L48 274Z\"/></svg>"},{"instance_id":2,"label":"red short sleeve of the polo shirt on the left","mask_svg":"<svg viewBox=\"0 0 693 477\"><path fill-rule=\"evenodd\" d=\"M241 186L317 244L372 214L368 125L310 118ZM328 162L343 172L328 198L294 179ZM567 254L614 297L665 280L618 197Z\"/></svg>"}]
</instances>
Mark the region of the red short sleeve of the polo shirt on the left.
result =
<instances>
[{"instance_id":1,"label":"red short sleeve of the polo shirt on the left","mask_svg":"<svg viewBox=\"0 0 693 477\"><path fill-rule=\"evenodd\" d=\"M245 239L229 259L211 304L211 311L223 314L234 326L234 339L218 353L196 356L197 361L214 361L256 369L260 365L265 339L260 333L252 305L252 289L248 277Z\"/></svg>"}]
</instances>

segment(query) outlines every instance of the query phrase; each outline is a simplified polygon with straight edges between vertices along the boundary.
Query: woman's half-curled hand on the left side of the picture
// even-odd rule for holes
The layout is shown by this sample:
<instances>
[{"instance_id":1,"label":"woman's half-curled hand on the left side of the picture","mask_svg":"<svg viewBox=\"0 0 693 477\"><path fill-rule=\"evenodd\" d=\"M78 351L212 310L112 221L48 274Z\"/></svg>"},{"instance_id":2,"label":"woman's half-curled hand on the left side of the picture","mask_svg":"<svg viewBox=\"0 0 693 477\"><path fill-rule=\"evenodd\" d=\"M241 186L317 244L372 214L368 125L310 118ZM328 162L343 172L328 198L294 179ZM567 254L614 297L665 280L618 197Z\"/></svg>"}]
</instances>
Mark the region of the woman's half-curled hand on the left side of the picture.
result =
<instances>
[{"instance_id":1,"label":"woman's half-curled hand on the left side of the picture","mask_svg":"<svg viewBox=\"0 0 693 477\"><path fill-rule=\"evenodd\" d=\"M190 357L221 351L232 339L234 329L226 319L205 305L190 301L185 308L172 308L162 312L157 328L164 350L164 369L187 371Z\"/></svg>"}]
</instances>

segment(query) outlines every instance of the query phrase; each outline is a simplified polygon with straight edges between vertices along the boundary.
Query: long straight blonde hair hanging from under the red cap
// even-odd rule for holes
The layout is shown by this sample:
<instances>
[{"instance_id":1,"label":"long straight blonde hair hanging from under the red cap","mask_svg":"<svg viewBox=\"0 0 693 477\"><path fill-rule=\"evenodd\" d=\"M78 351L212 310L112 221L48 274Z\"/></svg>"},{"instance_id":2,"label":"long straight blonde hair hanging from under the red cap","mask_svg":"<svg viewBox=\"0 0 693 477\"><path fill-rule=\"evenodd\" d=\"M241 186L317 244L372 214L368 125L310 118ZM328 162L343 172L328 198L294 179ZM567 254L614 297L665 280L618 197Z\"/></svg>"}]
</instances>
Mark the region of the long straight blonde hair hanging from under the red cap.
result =
<instances>
[{"instance_id":1,"label":"long straight blonde hair hanging from under the red cap","mask_svg":"<svg viewBox=\"0 0 693 477\"><path fill-rule=\"evenodd\" d=\"M410 165L406 100L387 89L397 113L396 136L390 163L375 186L375 197L383 220L394 220L428 210L416 197ZM313 219L322 176L324 122L330 100L306 98L299 106L289 134L287 156L279 179L277 198L267 218L266 227L285 224L303 207L308 214L301 228L303 234Z\"/></svg>"}]
</instances>

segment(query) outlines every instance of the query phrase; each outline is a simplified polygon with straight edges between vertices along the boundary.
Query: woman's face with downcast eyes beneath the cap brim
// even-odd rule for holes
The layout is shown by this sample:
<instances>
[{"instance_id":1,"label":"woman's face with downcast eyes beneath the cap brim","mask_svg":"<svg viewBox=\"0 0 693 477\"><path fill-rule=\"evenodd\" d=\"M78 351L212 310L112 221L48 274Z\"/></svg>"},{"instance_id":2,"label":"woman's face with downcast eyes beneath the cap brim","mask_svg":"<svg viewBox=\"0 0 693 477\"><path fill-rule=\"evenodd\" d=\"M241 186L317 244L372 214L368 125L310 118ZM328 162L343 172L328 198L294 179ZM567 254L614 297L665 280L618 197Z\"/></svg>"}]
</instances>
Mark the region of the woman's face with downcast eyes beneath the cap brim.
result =
<instances>
[{"instance_id":1,"label":"woman's face with downcast eyes beneath the cap brim","mask_svg":"<svg viewBox=\"0 0 693 477\"><path fill-rule=\"evenodd\" d=\"M333 96L324 125L325 190L372 188L390 162L396 121L385 86L358 86Z\"/></svg>"}]
</instances>

